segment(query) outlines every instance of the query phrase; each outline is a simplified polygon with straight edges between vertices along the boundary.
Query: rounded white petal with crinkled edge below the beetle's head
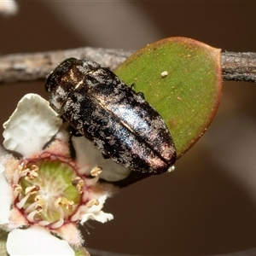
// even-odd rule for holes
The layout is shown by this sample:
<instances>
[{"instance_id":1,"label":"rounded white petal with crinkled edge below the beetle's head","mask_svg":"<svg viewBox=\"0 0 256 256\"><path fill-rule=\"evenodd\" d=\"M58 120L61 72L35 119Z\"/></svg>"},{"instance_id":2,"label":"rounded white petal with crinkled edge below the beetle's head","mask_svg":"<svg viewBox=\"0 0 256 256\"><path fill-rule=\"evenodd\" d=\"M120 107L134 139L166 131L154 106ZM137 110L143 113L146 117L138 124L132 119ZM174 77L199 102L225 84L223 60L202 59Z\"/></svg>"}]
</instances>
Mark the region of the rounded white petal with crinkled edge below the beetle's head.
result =
<instances>
[{"instance_id":1,"label":"rounded white petal with crinkled edge below the beetle's head","mask_svg":"<svg viewBox=\"0 0 256 256\"><path fill-rule=\"evenodd\" d=\"M23 156L37 154L59 130L61 123L49 102L37 94L27 94L3 124L3 146Z\"/></svg>"}]
</instances>

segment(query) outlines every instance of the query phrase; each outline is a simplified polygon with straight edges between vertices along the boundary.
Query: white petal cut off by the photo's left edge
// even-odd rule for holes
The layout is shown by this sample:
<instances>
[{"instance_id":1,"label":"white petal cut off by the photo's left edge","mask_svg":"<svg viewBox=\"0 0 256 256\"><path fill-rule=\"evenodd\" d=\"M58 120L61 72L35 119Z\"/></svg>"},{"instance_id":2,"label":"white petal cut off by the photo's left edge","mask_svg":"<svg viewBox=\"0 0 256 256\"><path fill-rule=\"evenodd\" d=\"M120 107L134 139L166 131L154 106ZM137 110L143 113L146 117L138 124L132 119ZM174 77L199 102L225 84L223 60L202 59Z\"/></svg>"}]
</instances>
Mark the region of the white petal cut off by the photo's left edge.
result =
<instances>
[{"instance_id":1,"label":"white petal cut off by the photo's left edge","mask_svg":"<svg viewBox=\"0 0 256 256\"><path fill-rule=\"evenodd\" d=\"M10 217L10 206L13 200L13 191L4 175L4 167L0 164L0 224L8 224Z\"/></svg>"}]
</instances>

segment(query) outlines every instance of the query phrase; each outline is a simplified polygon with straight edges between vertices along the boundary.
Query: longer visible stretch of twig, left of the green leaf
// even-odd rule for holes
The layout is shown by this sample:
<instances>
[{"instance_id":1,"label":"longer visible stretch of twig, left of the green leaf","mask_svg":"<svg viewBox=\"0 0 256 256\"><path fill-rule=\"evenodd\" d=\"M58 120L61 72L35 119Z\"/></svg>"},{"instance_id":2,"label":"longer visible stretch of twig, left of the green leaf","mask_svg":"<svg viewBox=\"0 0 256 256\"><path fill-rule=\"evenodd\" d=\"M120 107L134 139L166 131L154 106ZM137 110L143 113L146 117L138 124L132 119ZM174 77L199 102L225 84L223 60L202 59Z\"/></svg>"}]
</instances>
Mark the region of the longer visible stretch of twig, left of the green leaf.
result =
<instances>
[{"instance_id":1,"label":"longer visible stretch of twig, left of the green leaf","mask_svg":"<svg viewBox=\"0 0 256 256\"><path fill-rule=\"evenodd\" d=\"M96 61L114 70L133 51L122 49L78 48L0 56L0 84L45 79L63 60L74 57Z\"/></svg>"}]
</instances>

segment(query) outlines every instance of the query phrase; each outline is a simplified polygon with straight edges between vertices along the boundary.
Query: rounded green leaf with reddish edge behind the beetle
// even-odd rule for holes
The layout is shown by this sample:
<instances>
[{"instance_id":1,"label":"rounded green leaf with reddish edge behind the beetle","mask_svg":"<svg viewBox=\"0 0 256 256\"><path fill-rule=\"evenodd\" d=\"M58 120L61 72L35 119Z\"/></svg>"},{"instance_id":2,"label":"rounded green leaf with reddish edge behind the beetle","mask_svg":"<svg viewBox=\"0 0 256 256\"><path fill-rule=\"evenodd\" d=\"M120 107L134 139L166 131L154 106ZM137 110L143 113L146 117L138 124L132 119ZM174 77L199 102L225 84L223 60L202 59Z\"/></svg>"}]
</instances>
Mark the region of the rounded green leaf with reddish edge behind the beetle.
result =
<instances>
[{"instance_id":1,"label":"rounded green leaf with reddish edge behind the beetle","mask_svg":"<svg viewBox=\"0 0 256 256\"><path fill-rule=\"evenodd\" d=\"M131 55L115 73L135 84L172 133L177 158L207 130L217 111L220 49L189 38L166 38Z\"/></svg>"}]
</instances>

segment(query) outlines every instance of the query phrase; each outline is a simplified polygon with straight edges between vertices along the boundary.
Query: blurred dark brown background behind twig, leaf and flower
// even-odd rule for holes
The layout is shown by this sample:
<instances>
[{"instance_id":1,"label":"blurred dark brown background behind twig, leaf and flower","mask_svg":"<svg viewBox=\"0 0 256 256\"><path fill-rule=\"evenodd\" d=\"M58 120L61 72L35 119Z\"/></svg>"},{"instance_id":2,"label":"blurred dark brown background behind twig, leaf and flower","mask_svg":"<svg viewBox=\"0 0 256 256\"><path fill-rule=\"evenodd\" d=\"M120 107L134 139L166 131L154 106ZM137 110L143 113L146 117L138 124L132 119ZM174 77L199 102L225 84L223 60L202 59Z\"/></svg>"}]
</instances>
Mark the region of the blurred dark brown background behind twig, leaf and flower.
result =
<instances>
[{"instance_id":1,"label":"blurred dark brown background behind twig, leaf and flower","mask_svg":"<svg viewBox=\"0 0 256 256\"><path fill-rule=\"evenodd\" d=\"M0 16L1 55L83 46L140 49L174 36L256 52L253 1L18 4L17 15ZM87 247L142 255L207 255L256 247L255 91L255 84L224 83L212 125L177 161L175 172L134 183L109 199L104 211L114 219L84 225ZM1 124L28 92L47 98L44 83L1 84Z\"/></svg>"}]
</instances>

